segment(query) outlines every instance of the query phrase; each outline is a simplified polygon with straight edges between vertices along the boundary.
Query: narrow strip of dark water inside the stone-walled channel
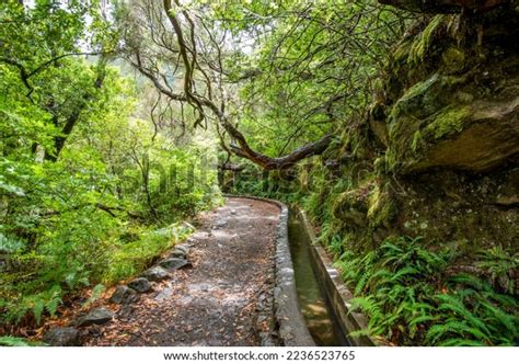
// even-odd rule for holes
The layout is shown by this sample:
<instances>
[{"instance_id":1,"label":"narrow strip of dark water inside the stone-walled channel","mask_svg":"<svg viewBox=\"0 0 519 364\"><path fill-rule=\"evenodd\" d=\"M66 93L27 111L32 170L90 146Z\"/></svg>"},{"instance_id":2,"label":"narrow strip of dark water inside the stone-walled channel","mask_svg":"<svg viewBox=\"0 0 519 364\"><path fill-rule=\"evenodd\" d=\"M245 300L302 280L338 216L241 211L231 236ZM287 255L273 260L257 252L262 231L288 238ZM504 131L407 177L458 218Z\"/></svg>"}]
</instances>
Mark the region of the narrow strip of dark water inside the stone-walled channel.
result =
<instances>
[{"instance_id":1,"label":"narrow strip of dark water inside the stone-walled channel","mask_svg":"<svg viewBox=\"0 0 519 364\"><path fill-rule=\"evenodd\" d=\"M290 212L288 237L298 291L299 308L315 343L320 346L343 346L348 342L328 308L310 254L310 239L300 220Z\"/></svg>"}]
</instances>

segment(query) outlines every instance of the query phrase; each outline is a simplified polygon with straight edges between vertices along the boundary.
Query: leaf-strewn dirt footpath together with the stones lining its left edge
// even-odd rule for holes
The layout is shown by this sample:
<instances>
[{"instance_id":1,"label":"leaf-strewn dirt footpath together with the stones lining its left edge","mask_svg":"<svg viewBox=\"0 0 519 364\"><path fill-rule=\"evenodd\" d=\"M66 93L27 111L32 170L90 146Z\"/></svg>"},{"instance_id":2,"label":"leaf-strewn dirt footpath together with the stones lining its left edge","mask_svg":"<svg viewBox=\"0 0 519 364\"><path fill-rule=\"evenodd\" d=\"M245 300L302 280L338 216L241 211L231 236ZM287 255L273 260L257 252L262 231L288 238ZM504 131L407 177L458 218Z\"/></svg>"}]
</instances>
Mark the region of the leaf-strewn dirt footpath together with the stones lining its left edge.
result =
<instances>
[{"instance_id":1,"label":"leaf-strewn dirt footpath together with the stones lining its left edge","mask_svg":"<svg viewBox=\"0 0 519 364\"><path fill-rule=\"evenodd\" d=\"M54 346L282 344L274 316L279 219L275 204L227 198L201 213L196 231L149 270L92 305L72 302L35 339ZM289 333L286 343L297 344L288 343Z\"/></svg>"}]
</instances>

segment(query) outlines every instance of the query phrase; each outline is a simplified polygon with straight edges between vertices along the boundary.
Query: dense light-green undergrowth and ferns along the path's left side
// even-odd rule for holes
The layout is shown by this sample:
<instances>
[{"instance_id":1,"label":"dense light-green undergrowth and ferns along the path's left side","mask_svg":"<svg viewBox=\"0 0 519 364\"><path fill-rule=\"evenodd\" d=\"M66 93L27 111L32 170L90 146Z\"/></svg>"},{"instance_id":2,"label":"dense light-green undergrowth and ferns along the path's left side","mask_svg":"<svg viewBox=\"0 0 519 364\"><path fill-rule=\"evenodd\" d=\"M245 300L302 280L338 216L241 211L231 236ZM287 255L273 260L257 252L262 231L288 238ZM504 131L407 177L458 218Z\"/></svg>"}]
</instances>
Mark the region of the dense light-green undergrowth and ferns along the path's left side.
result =
<instances>
[{"instance_id":1,"label":"dense light-green undergrowth and ferns along the path's left side","mask_svg":"<svg viewBox=\"0 0 519 364\"><path fill-rule=\"evenodd\" d=\"M163 189L157 169L143 185L139 159L127 159L126 166L104 162L104 156L80 146L51 163L1 158L0 321L5 330L11 323L41 323L78 291L139 273L191 232L184 219L221 202L215 175L186 180L189 171L197 173L196 150L160 153L147 148L137 158L160 166L162 157L177 171ZM114 173L114 167L124 168Z\"/></svg>"}]
</instances>

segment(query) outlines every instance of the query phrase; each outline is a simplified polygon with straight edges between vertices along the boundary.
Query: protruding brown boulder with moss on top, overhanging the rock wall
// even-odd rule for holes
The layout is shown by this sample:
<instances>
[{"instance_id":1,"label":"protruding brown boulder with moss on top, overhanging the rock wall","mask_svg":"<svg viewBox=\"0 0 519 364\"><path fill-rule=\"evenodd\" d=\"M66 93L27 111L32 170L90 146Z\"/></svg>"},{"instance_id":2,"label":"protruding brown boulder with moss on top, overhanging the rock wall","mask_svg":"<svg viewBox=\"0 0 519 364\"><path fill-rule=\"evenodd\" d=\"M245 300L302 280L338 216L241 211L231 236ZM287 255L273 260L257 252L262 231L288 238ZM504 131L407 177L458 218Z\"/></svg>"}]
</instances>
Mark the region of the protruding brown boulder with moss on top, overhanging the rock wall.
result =
<instances>
[{"instance_id":1,"label":"protruding brown boulder with moss on top, overhanging the rock wall","mask_svg":"<svg viewBox=\"0 0 519 364\"><path fill-rule=\"evenodd\" d=\"M432 167L482 172L519 152L519 98L452 104L419 120L402 117L388 151L392 170Z\"/></svg>"}]
</instances>

